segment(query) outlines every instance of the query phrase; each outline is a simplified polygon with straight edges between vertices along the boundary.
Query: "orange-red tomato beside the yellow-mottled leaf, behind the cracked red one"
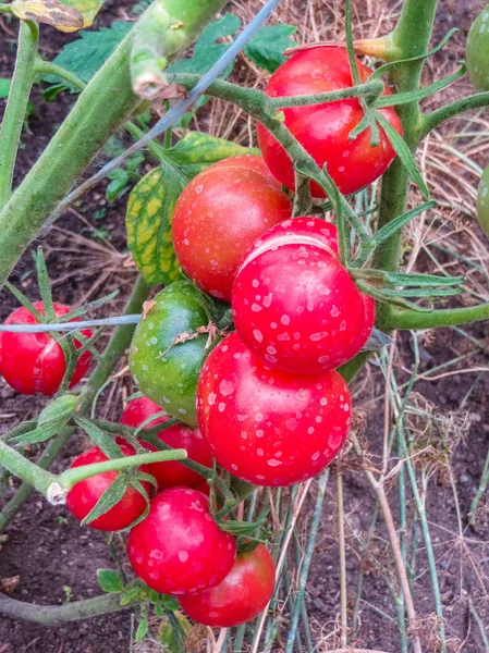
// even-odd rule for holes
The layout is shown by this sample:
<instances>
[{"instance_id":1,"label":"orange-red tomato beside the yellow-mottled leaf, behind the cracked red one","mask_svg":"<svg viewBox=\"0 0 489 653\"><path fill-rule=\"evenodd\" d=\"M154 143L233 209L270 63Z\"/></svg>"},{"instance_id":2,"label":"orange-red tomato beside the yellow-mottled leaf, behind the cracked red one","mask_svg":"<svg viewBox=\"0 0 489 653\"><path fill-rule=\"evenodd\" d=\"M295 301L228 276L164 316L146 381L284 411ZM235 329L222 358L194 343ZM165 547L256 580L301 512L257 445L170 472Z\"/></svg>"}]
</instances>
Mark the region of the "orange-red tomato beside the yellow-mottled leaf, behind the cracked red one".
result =
<instances>
[{"instance_id":1,"label":"orange-red tomato beside the yellow-mottled leaf, behind the cracked red one","mask_svg":"<svg viewBox=\"0 0 489 653\"><path fill-rule=\"evenodd\" d=\"M219 161L176 202L176 257L199 287L220 299L230 300L237 267L256 238L292 214L291 200L265 169L259 157Z\"/></svg>"}]
</instances>

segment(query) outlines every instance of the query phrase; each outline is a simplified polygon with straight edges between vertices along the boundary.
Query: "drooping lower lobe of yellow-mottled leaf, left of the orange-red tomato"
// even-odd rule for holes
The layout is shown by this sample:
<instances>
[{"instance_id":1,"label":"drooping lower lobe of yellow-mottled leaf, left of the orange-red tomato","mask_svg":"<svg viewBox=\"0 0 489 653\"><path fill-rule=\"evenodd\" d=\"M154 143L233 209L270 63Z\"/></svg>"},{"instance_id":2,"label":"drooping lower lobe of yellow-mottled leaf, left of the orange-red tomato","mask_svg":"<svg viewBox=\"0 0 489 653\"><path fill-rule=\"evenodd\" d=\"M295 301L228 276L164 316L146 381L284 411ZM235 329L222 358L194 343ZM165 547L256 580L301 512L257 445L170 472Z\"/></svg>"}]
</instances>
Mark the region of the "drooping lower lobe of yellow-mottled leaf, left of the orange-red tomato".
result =
<instances>
[{"instance_id":1,"label":"drooping lower lobe of yellow-mottled leaf, left of the orange-red tomato","mask_svg":"<svg viewBox=\"0 0 489 653\"><path fill-rule=\"evenodd\" d=\"M148 285L175 281L180 266L173 250L171 222L185 181L172 168L157 168L131 192L125 225L127 246Z\"/></svg>"}]
</instances>

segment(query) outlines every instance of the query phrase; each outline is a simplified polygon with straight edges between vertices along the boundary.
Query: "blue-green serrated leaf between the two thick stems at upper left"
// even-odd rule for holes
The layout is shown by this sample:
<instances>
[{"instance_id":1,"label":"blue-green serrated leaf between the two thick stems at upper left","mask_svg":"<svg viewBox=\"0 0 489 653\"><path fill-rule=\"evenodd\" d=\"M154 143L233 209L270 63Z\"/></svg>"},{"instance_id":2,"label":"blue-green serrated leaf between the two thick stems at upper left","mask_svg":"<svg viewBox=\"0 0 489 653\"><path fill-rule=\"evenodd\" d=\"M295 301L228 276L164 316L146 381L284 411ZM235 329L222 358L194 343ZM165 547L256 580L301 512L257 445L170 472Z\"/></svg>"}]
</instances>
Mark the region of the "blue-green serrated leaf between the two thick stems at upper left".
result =
<instances>
[{"instance_id":1,"label":"blue-green serrated leaf between the two thick stems at upper left","mask_svg":"<svg viewBox=\"0 0 489 653\"><path fill-rule=\"evenodd\" d=\"M84 82L89 82L127 36L132 25L125 21L114 21L110 28L102 27L98 32L81 32L81 38L64 46L53 63L75 73ZM46 75L44 79L49 84L60 84L60 77L56 75Z\"/></svg>"}]
</instances>

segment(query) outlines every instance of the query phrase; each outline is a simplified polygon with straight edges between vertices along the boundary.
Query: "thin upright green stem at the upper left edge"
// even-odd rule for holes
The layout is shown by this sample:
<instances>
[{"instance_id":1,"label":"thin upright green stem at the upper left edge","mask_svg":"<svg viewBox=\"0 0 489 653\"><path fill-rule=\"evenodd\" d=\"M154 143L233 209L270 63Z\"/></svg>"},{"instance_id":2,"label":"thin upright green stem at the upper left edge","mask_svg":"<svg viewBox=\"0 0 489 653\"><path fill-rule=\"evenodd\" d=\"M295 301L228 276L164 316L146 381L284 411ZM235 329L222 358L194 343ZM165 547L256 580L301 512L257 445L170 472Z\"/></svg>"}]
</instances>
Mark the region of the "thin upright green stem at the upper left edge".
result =
<instances>
[{"instance_id":1,"label":"thin upright green stem at the upper left edge","mask_svg":"<svg viewBox=\"0 0 489 653\"><path fill-rule=\"evenodd\" d=\"M19 141L35 77L38 37L36 23L21 21L15 71L0 130L0 211L12 192Z\"/></svg>"}]
</instances>

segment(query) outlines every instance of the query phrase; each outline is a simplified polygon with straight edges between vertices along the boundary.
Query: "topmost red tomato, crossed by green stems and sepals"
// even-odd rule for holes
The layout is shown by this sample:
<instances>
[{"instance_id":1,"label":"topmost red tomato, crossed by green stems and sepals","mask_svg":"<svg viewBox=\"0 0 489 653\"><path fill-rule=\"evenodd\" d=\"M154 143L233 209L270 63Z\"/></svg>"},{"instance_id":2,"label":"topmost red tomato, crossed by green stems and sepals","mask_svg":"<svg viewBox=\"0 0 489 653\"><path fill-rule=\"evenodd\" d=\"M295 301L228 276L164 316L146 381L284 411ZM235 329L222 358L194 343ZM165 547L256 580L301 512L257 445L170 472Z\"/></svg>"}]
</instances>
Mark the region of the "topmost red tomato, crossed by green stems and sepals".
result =
<instances>
[{"instance_id":1,"label":"topmost red tomato, crossed by green stems and sepals","mask_svg":"<svg viewBox=\"0 0 489 653\"><path fill-rule=\"evenodd\" d=\"M366 82L371 70L357 61L360 82ZM346 48L327 46L304 50L294 54L273 73L267 86L267 95L311 95L349 88L353 86ZM390 95L386 88L383 95ZM381 109L391 125L402 134L402 124L394 109ZM326 104L284 109L285 125L322 168L328 172L343 194L356 193L381 176L395 157L388 137L380 128L380 143L371 147L370 130L355 140L349 135L364 118L357 99L339 100ZM292 161L281 145L258 125L258 144L264 159L273 175L284 186L294 188ZM325 197L322 188L311 184L315 197Z\"/></svg>"}]
</instances>

